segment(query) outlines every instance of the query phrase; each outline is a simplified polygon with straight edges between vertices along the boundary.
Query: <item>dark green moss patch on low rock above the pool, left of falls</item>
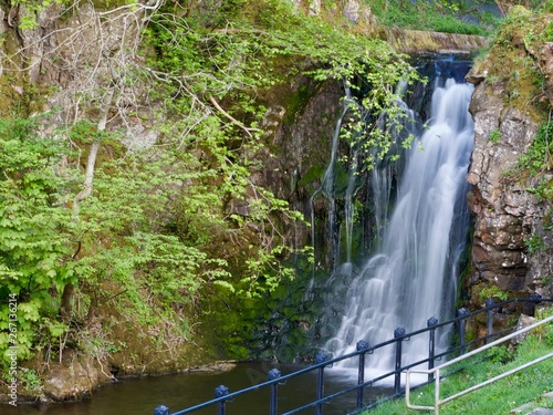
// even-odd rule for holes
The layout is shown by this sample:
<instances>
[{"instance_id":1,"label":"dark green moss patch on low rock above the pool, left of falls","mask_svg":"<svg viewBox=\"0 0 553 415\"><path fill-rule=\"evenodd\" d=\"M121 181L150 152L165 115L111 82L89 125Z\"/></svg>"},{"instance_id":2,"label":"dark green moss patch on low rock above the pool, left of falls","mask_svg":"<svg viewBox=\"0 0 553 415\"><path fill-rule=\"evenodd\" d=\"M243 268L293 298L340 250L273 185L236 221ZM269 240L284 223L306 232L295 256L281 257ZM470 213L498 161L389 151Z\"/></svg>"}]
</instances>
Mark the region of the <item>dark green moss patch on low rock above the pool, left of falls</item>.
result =
<instances>
[{"instance_id":1,"label":"dark green moss patch on low rock above the pool, left of falls","mask_svg":"<svg viewBox=\"0 0 553 415\"><path fill-rule=\"evenodd\" d=\"M282 283L263 299L244 299L223 293L206 303L201 332L212 335L219 353L234 360L276 359L292 362L304 354L314 336L316 303L306 299L310 264L298 258L299 276ZM302 273L301 270L306 270ZM212 334L209 334L212 333ZM309 353L307 353L309 354Z\"/></svg>"}]
</instances>

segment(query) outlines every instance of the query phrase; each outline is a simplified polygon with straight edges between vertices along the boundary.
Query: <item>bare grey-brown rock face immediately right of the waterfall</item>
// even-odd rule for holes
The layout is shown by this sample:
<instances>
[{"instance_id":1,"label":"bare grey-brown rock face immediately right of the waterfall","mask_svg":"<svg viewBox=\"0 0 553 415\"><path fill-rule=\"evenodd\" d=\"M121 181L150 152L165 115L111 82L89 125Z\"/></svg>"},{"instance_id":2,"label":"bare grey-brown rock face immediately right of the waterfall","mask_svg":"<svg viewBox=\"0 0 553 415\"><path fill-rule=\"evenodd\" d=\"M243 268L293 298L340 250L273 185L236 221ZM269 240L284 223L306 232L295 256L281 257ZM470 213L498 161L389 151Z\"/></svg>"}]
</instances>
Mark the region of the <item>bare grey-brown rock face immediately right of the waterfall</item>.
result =
<instances>
[{"instance_id":1,"label":"bare grey-brown rock face immediately right of the waterfall","mask_svg":"<svg viewBox=\"0 0 553 415\"><path fill-rule=\"evenodd\" d=\"M471 283L488 281L503 291L522 293L530 282L524 240L532 232L536 199L505 174L532 143L538 125L519 110L505 107L486 83L477 85L469 111L476 124L467 177L473 186L468 200L476 217ZM501 142L490 141L492 132L499 132Z\"/></svg>"}]
</instances>

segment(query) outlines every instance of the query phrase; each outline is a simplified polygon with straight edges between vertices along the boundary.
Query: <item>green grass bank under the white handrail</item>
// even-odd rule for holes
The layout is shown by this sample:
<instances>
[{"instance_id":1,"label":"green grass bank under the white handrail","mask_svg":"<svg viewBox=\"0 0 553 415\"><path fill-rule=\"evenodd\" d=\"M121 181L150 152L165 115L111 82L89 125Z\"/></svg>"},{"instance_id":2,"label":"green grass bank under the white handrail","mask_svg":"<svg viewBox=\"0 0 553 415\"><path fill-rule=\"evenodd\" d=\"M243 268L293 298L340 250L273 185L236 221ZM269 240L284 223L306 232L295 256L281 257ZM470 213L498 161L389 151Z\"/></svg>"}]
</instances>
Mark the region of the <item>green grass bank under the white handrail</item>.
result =
<instances>
[{"instance_id":1,"label":"green grass bank under the white handrail","mask_svg":"<svg viewBox=\"0 0 553 415\"><path fill-rule=\"evenodd\" d=\"M451 375L440 384L440 397L451 396L465 388L481 383L498 374L518 367L526 362L553 351L553 324L526 338L514 351L508 346L498 346L487 354L473 356L462 366L451 366ZM497 381L473 393L459 397L440 406L444 415L482 415L510 414L513 408L530 402L540 407L553 408L553 400L541 396L553 391L553 359ZM411 392L411 404L432 405L434 385ZM529 408L528 412L531 409ZM428 414L428 411L408 409L405 400L396 400L365 412L365 415L406 415Z\"/></svg>"}]
</instances>

